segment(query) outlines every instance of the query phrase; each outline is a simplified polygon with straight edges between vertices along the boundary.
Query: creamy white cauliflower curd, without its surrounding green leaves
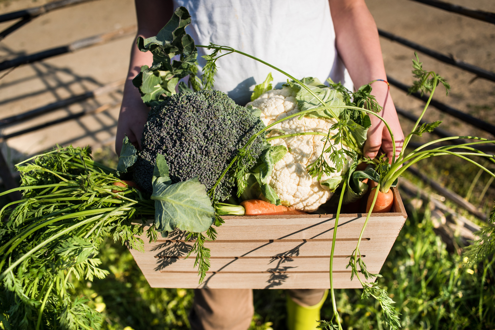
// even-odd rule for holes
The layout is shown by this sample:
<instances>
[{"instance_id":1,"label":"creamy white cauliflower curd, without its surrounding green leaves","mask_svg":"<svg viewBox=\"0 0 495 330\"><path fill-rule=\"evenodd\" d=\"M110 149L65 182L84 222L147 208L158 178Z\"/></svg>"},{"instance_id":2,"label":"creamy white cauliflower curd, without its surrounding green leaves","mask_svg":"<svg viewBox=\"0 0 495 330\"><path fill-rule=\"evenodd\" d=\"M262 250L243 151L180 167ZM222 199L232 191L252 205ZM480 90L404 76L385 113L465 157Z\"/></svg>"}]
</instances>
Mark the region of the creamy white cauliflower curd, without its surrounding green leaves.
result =
<instances>
[{"instance_id":1,"label":"creamy white cauliflower curd, without its surrounding green leaves","mask_svg":"<svg viewBox=\"0 0 495 330\"><path fill-rule=\"evenodd\" d=\"M274 89L247 103L247 106L251 105L260 109L260 119L265 125L269 125L299 112L294 96L295 93L292 88ZM298 120L297 117L294 117L273 126L284 133L272 131L267 137L299 132L322 132L326 134L335 123L334 119L304 117ZM331 134L335 133L336 131L333 131ZM346 165L340 172L331 173L330 176L324 174L320 181L308 174L306 166L315 162L323 151L322 137L321 135L298 135L269 141L274 146L287 147L289 152L274 165L272 174L268 178L268 184L275 190L281 201L296 209L311 212L327 202L333 193L322 186L320 182L344 174L350 167L351 158L346 156ZM336 147L340 148L340 146ZM347 146L344 148L348 150ZM335 167L329 156L329 154L325 154L325 160L330 166Z\"/></svg>"}]
</instances>

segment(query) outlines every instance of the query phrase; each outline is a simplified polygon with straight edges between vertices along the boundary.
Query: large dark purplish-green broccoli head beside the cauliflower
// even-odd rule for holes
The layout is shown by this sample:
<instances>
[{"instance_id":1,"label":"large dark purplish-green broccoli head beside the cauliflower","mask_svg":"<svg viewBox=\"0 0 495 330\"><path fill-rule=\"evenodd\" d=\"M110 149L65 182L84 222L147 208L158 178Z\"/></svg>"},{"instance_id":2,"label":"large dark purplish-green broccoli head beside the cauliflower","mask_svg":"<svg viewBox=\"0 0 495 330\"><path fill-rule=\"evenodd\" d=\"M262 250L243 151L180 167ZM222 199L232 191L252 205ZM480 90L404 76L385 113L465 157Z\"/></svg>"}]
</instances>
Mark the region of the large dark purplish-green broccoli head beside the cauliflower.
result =
<instances>
[{"instance_id":1,"label":"large dark purplish-green broccoli head beside the cauliflower","mask_svg":"<svg viewBox=\"0 0 495 330\"><path fill-rule=\"evenodd\" d=\"M151 192L156 154L165 156L172 183L198 176L207 189L213 187L247 140L265 125L245 107L218 90L182 91L151 109L141 139L142 150L134 166L134 180ZM264 134L251 145L251 168L266 147ZM230 197L235 185L227 173L215 189L220 201Z\"/></svg>"}]
</instances>

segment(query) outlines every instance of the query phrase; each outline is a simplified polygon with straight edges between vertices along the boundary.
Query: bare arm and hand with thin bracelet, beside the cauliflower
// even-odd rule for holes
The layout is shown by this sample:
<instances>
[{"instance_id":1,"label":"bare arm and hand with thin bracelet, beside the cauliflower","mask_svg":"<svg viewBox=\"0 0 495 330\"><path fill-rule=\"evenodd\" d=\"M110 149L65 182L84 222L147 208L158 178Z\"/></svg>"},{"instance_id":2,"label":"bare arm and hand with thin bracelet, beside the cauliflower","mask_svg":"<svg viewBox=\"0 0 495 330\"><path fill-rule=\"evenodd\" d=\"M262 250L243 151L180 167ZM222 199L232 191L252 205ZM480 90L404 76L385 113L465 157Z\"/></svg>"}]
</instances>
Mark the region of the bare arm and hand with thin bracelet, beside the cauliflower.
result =
<instances>
[{"instance_id":1,"label":"bare arm and hand with thin bracelet, beside the cauliflower","mask_svg":"<svg viewBox=\"0 0 495 330\"><path fill-rule=\"evenodd\" d=\"M375 20L364 0L329 0L334 22L336 45L349 71L354 86L359 87L377 79L386 80L382 49ZM372 95L384 110L381 116L390 124L396 141L396 155L404 139L396 108L385 82L374 82ZM392 139L384 124L370 116L372 126L364 146L364 155L374 158L382 148L392 159Z\"/></svg>"}]
</instances>

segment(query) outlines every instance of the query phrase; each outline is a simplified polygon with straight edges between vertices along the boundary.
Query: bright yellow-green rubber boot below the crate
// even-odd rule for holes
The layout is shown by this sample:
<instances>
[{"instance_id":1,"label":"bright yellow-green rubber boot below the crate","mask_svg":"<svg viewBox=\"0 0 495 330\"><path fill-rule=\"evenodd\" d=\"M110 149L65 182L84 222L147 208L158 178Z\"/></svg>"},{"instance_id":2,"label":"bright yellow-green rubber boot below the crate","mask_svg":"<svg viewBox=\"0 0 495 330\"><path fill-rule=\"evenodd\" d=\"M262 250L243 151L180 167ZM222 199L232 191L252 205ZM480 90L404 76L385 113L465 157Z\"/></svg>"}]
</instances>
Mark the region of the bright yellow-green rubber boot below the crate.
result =
<instances>
[{"instance_id":1,"label":"bright yellow-green rubber boot below the crate","mask_svg":"<svg viewBox=\"0 0 495 330\"><path fill-rule=\"evenodd\" d=\"M300 306L287 294L287 328L289 330L315 330L319 325L320 309L327 298L328 290L325 290L320 302L313 306Z\"/></svg>"}]
</instances>

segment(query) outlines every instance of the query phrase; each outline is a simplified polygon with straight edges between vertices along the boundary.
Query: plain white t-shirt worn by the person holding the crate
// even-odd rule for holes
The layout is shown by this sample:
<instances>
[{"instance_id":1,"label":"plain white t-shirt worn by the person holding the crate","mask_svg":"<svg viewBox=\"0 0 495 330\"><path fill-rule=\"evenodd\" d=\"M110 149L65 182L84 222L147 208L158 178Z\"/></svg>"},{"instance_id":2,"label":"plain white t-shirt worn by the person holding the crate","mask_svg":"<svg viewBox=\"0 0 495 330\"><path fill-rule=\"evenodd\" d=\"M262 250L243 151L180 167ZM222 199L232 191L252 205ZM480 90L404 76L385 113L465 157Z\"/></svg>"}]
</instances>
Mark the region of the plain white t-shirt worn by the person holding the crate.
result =
<instances>
[{"instance_id":1,"label":"plain white t-shirt worn by the person holding the crate","mask_svg":"<svg viewBox=\"0 0 495 330\"><path fill-rule=\"evenodd\" d=\"M328 0L174 0L192 16L186 32L197 44L213 42L258 57L297 79L328 77L352 90L352 82L337 55L335 30ZM198 48L200 57L211 50ZM254 85L269 72L274 87L287 77L241 54L217 60L214 89L226 92L238 104L250 101Z\"/></svg>"}]
</instances>

